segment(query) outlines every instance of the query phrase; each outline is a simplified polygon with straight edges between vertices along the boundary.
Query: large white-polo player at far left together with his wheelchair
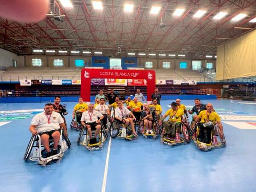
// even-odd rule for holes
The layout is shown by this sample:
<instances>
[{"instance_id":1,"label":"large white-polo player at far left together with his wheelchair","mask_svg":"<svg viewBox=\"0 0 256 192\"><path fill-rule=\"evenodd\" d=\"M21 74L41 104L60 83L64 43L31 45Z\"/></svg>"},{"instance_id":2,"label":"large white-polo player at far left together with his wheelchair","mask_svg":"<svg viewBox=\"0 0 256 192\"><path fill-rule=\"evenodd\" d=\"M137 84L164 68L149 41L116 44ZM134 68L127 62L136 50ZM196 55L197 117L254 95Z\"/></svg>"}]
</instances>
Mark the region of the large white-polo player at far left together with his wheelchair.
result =
<instances>
[{"instance_id":1,"label":"large white-polo player at far left together with his wheelchair","mask_svg":"<svg viewBox=\"0 0 256 192\"><path fill-rule=\"evenodd\" d=\"M59 113L53 111L51 103L44 106L44 112L34 116L29 131L32 137L24 154L25 161L38 161L38 164L45 166L60 160L71 145L64 120ZM32 148L35 150L31 156Z\"/></svg>"}]
</instances>

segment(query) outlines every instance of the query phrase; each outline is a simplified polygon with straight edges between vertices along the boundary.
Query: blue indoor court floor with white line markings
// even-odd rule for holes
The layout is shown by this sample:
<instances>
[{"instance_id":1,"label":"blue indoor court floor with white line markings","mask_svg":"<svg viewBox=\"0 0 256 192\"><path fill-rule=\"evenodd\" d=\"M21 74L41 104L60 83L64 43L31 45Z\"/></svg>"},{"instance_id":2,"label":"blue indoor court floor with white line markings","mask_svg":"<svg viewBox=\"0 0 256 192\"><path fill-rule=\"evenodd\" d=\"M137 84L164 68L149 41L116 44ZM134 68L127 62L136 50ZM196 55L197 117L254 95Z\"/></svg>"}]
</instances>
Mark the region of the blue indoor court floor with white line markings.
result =
<instances>
[{"instance_id":1,"label":"blue indoor court floor with white line markings","mask_svg":"<svg viewBox=\"0 0 256 192\"><path fill-rule=\"evenodd\" d=\"M161 102L164 113L171 102ZM76 143L79 132L68 128L72 146L61 163L48 168L23 161L31 137L28 128L39 113L28 110L42 109L44 103L0 104L0 191L255 192L256 102L201 102L211 102L221 116L226 148L204 152L193 143L169 146L160 138L140 136L131 142L107 140L103 150L88 151ZM193 100L181 103L190 109L194 105ZM75 104L67 103L68 126Z\"/></svg>"}]
</instances>

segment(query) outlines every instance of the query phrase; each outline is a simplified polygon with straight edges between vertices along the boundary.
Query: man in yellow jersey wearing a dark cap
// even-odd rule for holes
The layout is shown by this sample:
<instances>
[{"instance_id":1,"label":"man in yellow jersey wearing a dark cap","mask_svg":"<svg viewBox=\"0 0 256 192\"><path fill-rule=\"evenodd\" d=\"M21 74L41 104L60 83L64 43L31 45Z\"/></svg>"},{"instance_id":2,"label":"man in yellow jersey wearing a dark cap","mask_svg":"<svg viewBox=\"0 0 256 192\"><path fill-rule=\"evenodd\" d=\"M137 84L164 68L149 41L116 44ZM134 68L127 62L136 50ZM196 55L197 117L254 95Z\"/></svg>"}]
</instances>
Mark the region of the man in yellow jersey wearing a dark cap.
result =
<instances>
[{"instance_id":1,"label":"man in yellow jersey wearing a dark cap","mask_svg":"<svg viewBox=\"0 0 256 192\"><path fill-rule=\"evenodd\" d=\"M171 106L172 108L166 111L163 116L163 119L169 116L169 120L165 121L163 125L165 127L166 139L174 140L175 132L177 128L179 128L181 117L183 116L184 112L182 109L177 108L177 103L175 102L172 102Z\"/></svg>"}]
</instances>

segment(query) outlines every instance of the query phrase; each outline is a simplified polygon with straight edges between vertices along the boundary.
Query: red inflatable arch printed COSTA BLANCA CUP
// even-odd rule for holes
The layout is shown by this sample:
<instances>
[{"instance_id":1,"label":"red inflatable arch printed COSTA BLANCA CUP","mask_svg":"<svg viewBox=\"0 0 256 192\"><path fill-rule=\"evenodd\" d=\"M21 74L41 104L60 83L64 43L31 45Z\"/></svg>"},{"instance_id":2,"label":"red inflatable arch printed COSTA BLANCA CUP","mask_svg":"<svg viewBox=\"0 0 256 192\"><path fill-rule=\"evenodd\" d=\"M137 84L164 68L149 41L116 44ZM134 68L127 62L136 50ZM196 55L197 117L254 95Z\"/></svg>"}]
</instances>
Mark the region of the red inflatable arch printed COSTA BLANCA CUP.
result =
<instances>
[{"instance_id":1,"label":"red inflatable arch printed COSTA BLANCA CUP","mask_svg":"<svg viewBox=\"0 0 256 192\"><path fill-rule=\"evenodd\" d=\"M145 79L147 81L147 99L151 100L151 94L156 86L156 73L154 70L105 70L82 69L81 70L81 97L85 102L90 102L90 82L92 78L102 79Z\"/></svg>"}]
</instances>

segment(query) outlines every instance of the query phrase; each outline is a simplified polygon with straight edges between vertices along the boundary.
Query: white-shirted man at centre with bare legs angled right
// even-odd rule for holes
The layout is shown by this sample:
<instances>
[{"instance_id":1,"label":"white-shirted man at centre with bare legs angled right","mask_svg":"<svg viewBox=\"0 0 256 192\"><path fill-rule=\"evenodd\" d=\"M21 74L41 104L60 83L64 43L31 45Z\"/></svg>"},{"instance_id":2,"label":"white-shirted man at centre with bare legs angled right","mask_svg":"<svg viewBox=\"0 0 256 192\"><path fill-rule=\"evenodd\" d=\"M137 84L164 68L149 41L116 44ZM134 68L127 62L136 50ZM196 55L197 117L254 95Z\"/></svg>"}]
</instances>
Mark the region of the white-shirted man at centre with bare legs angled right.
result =
<instances>
[{"instance_id":1,"label":"white-shirted man at centre with bare legs angled right","mask_svg":"<svg viewBox=\"0 0 256 192\"><path fill-rule=\"evenodd\" d=\"M128 117L132 116L132 118ZM137 134L135 132L134 128L134 121L136 121L136 118L131 111L129 111L128 108L122 105L122 102L118 102L118 107L115 109L115 119L119 121L120 124L123 122L126 123L126 127L130 124L132 129L132 134L137 137Z\"/></svg>"}]
</instances>

